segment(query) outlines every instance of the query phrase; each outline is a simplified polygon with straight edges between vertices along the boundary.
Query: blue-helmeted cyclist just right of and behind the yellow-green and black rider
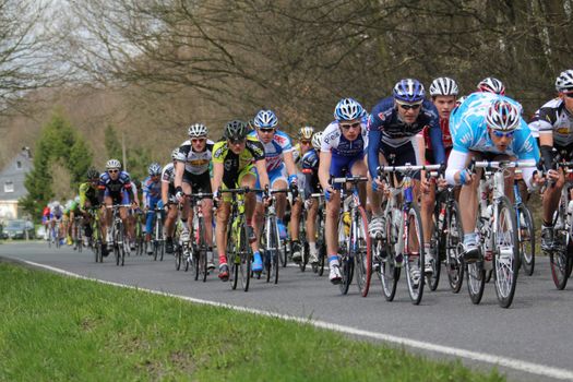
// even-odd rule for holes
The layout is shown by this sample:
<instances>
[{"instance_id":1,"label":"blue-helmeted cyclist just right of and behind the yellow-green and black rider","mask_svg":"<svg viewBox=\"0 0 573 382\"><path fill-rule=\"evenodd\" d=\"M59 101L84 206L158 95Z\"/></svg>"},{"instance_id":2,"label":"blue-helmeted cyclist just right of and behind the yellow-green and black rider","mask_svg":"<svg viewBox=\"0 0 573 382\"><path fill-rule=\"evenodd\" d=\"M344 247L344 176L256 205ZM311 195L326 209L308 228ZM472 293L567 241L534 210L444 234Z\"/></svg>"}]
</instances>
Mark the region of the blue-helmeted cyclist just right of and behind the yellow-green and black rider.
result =
<instances>
[{"instance_id":1,"label":"blue-helmeted cyclist just right of and behind the yellow-green and black rider","mask_svg":"<svg viewBox=\"0 0 573 382\"><path fill-rule=\"evenodd\" d=\"M258 140L263 144L270 188L285 189L287 186L290 188L296 188L298 177L295 159L293 158L293 145L290 143L290 138L285 132L277 129L278 119L276 118L275 114L272 110L260 110L254 117L253 124L255 130L249 133L249 138ZM259 188L259 186L260 182L258 181L256 188ZM276 194L276 217L280 239L286 239L287 237L286 227L283 223L286 203L286 194ZM256 236L260 235L263 219L264 205L259 195L253 222ZM300 244L298 247L298 252L300 255ZM254 258L259 259L260 254L255 253ZM253 271L259 268L262 270L262 262L260 265L253 264Z\"/></svg>"}]
</instances>

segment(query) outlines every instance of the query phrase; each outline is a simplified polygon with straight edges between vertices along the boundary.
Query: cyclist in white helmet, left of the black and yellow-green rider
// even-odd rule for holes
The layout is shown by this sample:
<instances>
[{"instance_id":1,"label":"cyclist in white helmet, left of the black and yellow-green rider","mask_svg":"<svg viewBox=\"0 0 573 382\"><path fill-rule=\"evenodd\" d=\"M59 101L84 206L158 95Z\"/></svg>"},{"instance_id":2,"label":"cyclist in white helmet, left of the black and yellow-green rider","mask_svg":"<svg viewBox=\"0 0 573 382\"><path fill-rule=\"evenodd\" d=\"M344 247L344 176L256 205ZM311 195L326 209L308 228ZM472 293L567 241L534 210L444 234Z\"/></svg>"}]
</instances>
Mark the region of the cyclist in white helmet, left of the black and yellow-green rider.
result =
<instances>
[{"instance_id":1,"label":"cyclist in white helmet, left of the black and yellow-green rider","mask_svg":"<svg viewBox=\"0 0 573 382\"><path fill-rule=\"evenodd\" d=\"M177 156L177 164L175 165L175 188L176 198L179 203L183 204L181 213L181 222L183 229L181 231L181 240L189 241L189 224L193 224L193 208L190 207L189 199L186 194L192 192L211 193L211 158L213 152L213 141L207 140L207 128L203 123L191 124L188 129L189 140L183 142L179 147L179 155ZM207 259L213 255L213 200L203 199L202 202L203 216L205 222L205 241L210 243L207 248ZM172 253L172 241L167 244ZM208 264L214 267L214 264Z\"/></svg>"}]
</instances>

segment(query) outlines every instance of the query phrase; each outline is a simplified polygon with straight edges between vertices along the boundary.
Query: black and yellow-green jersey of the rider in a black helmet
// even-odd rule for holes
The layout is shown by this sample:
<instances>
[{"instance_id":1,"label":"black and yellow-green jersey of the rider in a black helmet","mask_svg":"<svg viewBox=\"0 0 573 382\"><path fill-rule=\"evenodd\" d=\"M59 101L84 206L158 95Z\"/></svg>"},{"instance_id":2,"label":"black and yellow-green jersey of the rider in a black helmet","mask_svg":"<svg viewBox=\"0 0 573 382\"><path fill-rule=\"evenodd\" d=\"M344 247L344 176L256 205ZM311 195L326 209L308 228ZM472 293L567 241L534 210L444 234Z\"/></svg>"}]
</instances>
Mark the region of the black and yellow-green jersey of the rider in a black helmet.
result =
<instances>
[{"instance_id":1,"label":"black and yellow-green jersey of the rider in a black helmet","mask_svg":"<svg viewBox=\"0 0 573 382\"><path fill-rule=\"evenodd\" d=\"M229 150L227 141L220 141L213 146L213 163L220 163L224 167L223 183L227 187L235 187L239 179L239 174L248 168L252 168L253 162L264 159L264 147L258 139L248 136L244 150L235 154Z\"/></svg>"}]
</instances>

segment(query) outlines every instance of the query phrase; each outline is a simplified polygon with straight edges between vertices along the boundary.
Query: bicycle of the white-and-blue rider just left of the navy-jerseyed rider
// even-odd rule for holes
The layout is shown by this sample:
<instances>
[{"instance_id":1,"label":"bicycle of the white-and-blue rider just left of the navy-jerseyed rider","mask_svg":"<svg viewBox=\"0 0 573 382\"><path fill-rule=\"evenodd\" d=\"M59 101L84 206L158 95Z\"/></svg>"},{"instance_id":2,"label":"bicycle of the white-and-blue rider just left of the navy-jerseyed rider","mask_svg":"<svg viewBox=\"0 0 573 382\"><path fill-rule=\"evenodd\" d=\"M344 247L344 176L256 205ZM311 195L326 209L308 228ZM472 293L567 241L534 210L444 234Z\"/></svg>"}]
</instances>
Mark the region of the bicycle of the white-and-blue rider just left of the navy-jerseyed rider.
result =
<instances>
[{"instance_id":1,"label":"bicycle of the white-and-blue rider just left of the navy-jerseyed rider","mask_svg":"<svg viewBox=\"0 0 573 382\"><path fill-rule=\"evenodd\" d=\"M368 218L358 196L358 183L368 181L367 177L350 176L332 178L331 184L342 184L341 203L343 213L338 220L338 242L341 247L339 266L342 273L341 293L348 294L354 271L357 271L358 290L368 296L372 276L371 239L368 235ZM350 184L349 194L347 186Z\"/></svg>"}]
</instances>

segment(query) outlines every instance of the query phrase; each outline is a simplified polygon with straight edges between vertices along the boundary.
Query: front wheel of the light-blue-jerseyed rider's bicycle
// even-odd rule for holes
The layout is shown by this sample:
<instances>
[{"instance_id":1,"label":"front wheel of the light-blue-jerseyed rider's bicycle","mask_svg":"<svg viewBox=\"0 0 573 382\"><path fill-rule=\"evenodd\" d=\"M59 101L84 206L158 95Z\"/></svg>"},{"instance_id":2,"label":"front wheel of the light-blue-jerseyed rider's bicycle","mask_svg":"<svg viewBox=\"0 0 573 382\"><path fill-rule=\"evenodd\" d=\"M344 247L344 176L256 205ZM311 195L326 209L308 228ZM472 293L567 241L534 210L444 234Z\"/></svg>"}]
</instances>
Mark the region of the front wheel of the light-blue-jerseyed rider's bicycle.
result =
<instances>
[{"instance_id":1,"label":"front wheel of the light-blue-jerseyed rider's bicycle","mask_svg":"<svg viewBox=\"0 0 573 382\"><path fill-rule=\"evenodd\" d=\"M498 225L494 237L496 256L496 294L500 307L509 308L515 296L517 278L520 274L520 244L517 239L517 222L515 208L506 196L500 198L498 216L494 224ZM506 228L508 231L503 230Z\"/></svg>"}]
</instances>

